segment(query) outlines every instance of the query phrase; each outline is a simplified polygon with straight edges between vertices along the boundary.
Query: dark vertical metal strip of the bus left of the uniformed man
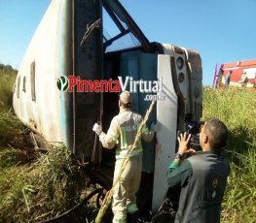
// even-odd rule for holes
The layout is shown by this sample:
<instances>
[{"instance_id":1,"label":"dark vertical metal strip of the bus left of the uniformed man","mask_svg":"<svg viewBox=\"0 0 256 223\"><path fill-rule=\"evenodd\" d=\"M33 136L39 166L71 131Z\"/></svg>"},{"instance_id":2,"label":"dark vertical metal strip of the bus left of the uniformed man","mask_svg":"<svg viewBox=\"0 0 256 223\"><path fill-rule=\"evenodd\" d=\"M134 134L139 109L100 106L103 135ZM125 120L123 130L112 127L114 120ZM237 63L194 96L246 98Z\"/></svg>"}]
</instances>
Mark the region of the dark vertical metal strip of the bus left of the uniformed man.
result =
<instances>
[{"instance_id":1,"label":"dark vertical metal strip of the bus left of the uniformed man","mask_svg":"<svg viewBox=\"0 0 256 223\"><path fill-rule=\"evenodd\" d=\"M102 79L102 28L94 28L86 41L80 43L87 31L100 18L99 1L74 1L74 75L81 80ZM94 134L93 123L100 119L100 94L92 92L75 92L74 106L74 142L73 152L78 156L91 156Z\"/></svg>"}]
</instances>

